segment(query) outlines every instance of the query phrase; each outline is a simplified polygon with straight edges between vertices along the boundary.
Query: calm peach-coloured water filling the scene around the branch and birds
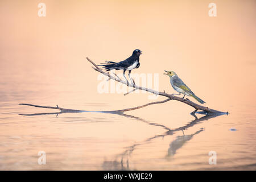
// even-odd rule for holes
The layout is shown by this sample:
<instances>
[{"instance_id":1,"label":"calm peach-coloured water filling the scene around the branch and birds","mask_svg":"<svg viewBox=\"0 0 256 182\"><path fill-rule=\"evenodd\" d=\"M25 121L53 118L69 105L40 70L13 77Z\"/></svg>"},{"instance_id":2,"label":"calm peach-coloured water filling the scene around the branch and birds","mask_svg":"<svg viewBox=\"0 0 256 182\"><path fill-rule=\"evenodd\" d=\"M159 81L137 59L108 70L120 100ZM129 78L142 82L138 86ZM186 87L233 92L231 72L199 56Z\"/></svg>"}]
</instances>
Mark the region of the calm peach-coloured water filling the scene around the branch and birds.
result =
<instances>
[{"instance_id":1,"label":"calm peach-coloured water filling the scene around the branch and birds","mask_svg":"<svg viewBox=\"0 0 256 182\"><path fill-rule=\"evenodd\" d=\"M34 1L1 1L1 170L256 169L255 1L216 1L216 18L204 1L73 2L46 1L39 18ZM156 101L99 93L85 60L122 60L135 48L143 55L134 73L159 73L159 90L174 93L162 74L174 70L205 106L230 114L193 117L177 101L119 115L19 105L102 111ZM35 113L49 114L19 115Z\"/></svg>"}]
</instances>

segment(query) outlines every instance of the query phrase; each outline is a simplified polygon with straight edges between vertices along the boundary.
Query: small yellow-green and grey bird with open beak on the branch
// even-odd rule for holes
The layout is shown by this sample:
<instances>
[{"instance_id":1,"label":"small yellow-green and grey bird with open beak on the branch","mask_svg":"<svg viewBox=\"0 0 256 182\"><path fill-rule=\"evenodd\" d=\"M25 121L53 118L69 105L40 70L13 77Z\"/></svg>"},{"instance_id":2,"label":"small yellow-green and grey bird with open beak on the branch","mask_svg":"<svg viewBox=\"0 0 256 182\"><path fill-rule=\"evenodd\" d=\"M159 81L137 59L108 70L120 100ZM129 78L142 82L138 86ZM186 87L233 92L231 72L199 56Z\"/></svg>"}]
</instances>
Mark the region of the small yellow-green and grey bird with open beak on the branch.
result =
<instances>
[{"instance_id":1,"label":"small yellow-green and grey bird with open beak on the branch","mask_svg":"<svg viewBox=\"0 0 256 182\"><path fill-rule=\"evenodd\" d=\"M172 87L179 92L179 94L175 94L175 95L180 95L181 93L184 94L183 98L185 97L185 95L187 96L191 96L193 98L195 98L195 100L199 101L201 104L204 104L205 101L201 100L201 98L197 97L192 91L191 89L188 88L188 86L186 84L184 84L184 82L177 76L177 74L173 71L165 71L166 73L164 73L164 75L168 75L170 77L170 82Z\"/></svg>"}]
</instances>

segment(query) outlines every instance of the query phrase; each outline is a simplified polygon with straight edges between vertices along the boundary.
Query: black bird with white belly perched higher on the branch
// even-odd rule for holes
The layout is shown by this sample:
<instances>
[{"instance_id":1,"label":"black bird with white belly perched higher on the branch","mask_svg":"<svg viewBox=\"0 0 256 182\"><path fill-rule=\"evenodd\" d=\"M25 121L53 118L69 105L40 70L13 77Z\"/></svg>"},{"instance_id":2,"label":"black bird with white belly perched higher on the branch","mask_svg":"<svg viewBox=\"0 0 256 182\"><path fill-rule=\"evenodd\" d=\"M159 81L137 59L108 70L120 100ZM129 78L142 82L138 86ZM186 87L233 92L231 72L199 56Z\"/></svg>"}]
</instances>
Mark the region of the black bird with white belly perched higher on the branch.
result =
<instances>
[{"instance_id":1,"label":"black bird with white belly perched higher on the branch","mask_svg":"<svg viewBox=\"0 0 256 182\"><path fill-rule=\"evenodd\" d=\"M105 69L106 71L110 71L112 69L116 69L116 70L123 70L123 76L125 77L125 72L126 70L129 71L128 76L131 80L130 74L131 74L131 70L133 70L134 68L139 68L139 56L142 54L142 51L139 49L135 49L133 51L133 55L131 55L130 57L128 57L126 60L123 60L119 63L113 62L113 61L106 61L106 63L101 63L103 69ZM128 82L127 78L125 77L126 81ZM131 82L133 82L133 80L131 80Z\"/></svg>"}]
</instances>

